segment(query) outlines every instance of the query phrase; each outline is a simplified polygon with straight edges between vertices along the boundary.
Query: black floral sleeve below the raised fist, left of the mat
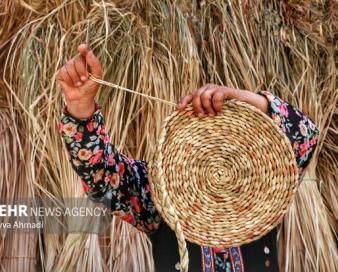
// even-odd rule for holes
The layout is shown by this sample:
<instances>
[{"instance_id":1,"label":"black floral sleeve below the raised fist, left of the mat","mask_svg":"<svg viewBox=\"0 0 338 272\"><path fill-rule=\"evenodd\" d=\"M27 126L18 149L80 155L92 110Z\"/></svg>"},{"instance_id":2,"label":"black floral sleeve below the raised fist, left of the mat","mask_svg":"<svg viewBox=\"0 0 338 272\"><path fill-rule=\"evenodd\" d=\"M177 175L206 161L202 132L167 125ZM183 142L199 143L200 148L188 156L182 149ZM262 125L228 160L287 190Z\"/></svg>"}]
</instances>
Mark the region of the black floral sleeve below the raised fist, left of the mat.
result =
<instances>
[{"instance_id":1,"label":"black floral sleeve below the raised fist, left of the mat","mask_svg":"<svg viewBox=\"0 0 338 272\"><path fill-rule=\"evenodd\" d=\"M105 131L100 106L96 103L95 113L85 120L71 116L65 106L58 130L88 197L141 231L156 230L161 218L151 200L147 162L116 150Z\"/></svg>"}]
</instances>

